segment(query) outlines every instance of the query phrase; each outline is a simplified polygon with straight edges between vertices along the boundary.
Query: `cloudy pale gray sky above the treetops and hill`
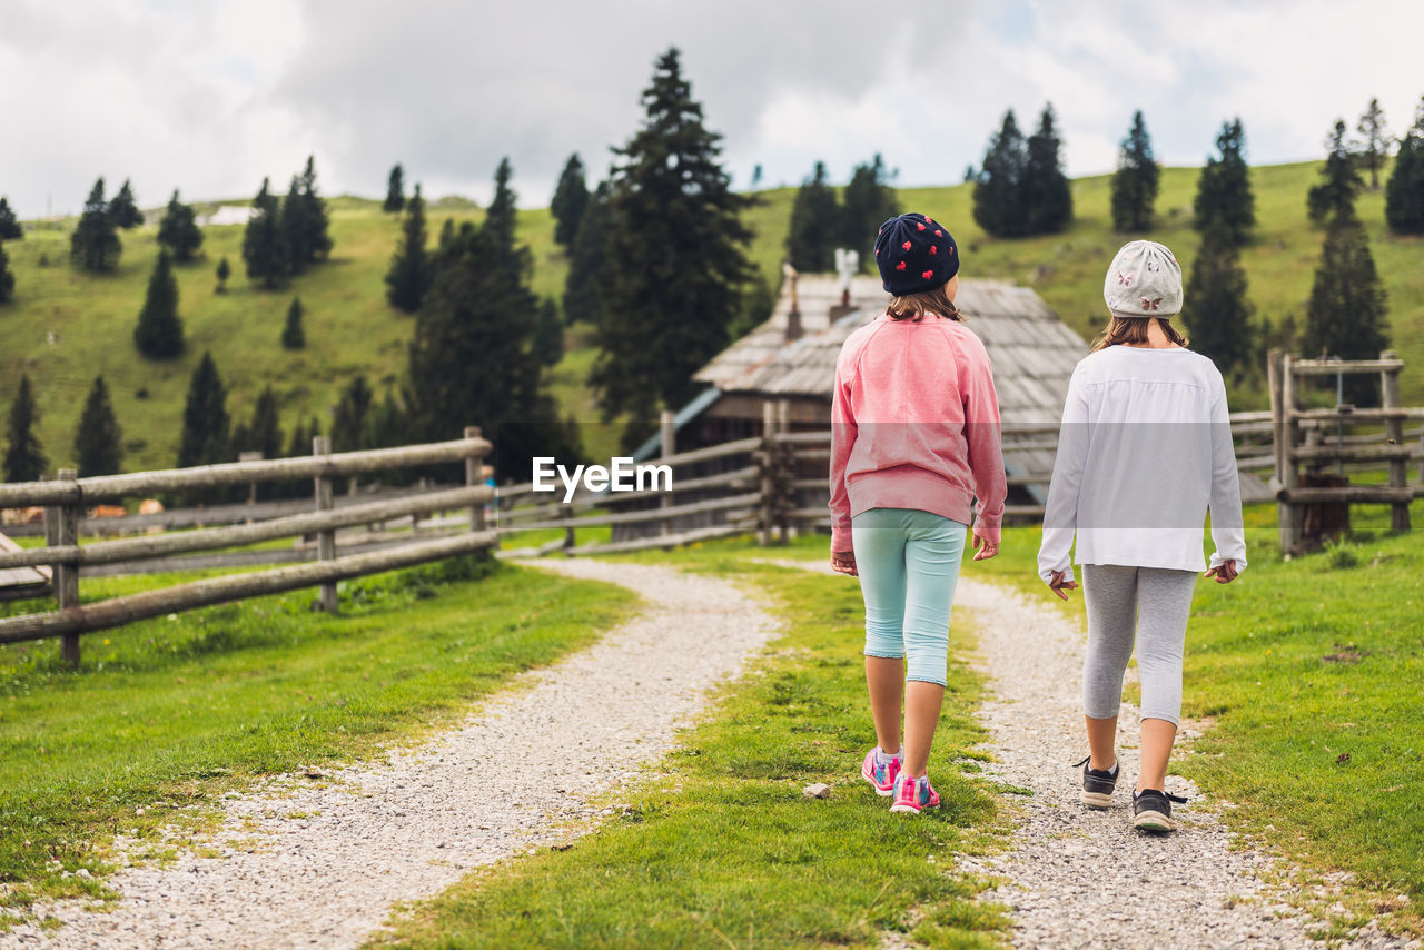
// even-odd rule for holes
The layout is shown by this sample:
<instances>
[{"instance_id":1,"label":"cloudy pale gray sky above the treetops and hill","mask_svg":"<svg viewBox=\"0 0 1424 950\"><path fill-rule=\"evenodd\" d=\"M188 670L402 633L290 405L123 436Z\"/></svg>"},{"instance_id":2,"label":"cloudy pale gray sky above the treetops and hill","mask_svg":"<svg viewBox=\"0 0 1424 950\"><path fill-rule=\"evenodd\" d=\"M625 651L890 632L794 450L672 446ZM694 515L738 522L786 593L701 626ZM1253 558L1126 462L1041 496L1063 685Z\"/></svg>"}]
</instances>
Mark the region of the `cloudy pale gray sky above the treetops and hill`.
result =
<instances>
[{"instance_id":1,"label":"cloudy pale gray sky above the treetops and hill","mask_svg":"<svg viewBox=\"0 0 1424 950\"><path fill-rule=\"evenodd\" d=\"M1074 175L1111 171L1135 108L1166 164L1230 115L1250 161L1294 161L1371 97L1413 121L1420 36L1400 0L0 0L0 195L71 212L103 174L145 207L245 197L315 152L326 194L379 197L400 161L483 204L507 154L543 205L570 152L602 175L669 46L742 187L876 151L900 185L957 182L1004 110L1047 101Z\"/></svg>"}]
</instances>

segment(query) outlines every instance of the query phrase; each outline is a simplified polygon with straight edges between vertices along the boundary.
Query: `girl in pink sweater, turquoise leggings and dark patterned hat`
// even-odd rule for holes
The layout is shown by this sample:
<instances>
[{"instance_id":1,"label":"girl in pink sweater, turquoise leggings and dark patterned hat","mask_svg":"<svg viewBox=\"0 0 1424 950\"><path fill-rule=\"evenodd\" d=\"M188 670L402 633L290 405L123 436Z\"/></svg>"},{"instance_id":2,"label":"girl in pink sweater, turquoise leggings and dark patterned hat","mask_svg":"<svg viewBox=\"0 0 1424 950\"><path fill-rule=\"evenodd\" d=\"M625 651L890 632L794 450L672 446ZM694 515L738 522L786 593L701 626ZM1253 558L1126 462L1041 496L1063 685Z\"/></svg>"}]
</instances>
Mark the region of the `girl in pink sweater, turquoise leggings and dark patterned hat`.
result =
<instances>
[{"instance_id":1,"label":"girl in pink sweater, turquoise leggings and dark patterned hat","mask_svg":"<svg viewBox=\"0 0 1424 950\"><path fill-rule=\"evenodd\" d=\"M933 218L900 215L880 226L876 263L894 299L836 363L830 563L860 578L866 600L879 743L862 775L893 798L890 810L918 813L940 803L927 766L965 526L977 499L974 560L998 553L1004 459L988 355L954 306L954 238Z\"/></svg>"}]
</instances>

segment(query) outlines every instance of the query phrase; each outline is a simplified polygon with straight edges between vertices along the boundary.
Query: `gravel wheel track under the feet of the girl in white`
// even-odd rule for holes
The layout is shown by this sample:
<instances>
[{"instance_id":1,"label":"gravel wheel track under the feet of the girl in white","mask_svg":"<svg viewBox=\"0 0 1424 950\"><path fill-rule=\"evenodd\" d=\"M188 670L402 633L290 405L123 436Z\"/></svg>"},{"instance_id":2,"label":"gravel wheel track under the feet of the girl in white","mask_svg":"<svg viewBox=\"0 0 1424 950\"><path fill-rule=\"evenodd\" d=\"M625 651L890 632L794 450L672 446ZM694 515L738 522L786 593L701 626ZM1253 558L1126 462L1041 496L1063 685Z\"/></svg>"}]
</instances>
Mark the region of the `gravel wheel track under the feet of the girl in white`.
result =
<instances>
[{"instance_id":1,"label":"gravel wheel track under the feet of the girl in white","mask_svg":"<svg viewBox=\"0 0 1424 950\"><path fill-rule=\"evenodd\" d=\"M832 573L823 561L769 561ZM847 578L847 583L849 578ZM1319 947L1312 926L1263 876L1274 859L1232 850L1233 833L1190 782L1168 776L1179 830L1155 837L1131 828L1138 771L1138 708L1118 718L1122 781L1108 810L1079 805L1082 628L1015 590L960 577L954 595L980 630L977 665L990 678L980 719L997 762L990 778L1032 790L1008 852L961 867L1007 883L983 894L1011 909L1018 947ZM958 612L964 611L964 612ZM1129 671L1132 675L1134 671ZM1182 739L1199 735L1183 722ZM1418 947L1373 924L1347 947Z\"/></svg>"}]
</instances>

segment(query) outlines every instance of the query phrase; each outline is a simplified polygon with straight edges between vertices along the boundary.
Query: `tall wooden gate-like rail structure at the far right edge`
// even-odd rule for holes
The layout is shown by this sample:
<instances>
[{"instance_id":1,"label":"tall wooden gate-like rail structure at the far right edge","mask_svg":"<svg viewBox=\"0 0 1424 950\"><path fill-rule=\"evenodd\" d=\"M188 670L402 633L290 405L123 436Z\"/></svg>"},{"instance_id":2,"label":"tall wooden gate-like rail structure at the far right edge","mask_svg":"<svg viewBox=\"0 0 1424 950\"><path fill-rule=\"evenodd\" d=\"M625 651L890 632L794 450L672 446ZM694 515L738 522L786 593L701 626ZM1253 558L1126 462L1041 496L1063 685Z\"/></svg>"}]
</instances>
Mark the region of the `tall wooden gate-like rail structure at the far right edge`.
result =
<instances>
[{"instance_id":1,"label":"tall wooden gate-like rail structure at the far right edge","mask_svg":"<svg viewBox=\"0 0 1424 950\"><path fill-rule=\"evenodd\" d=\"M1321 526L1316 513L1330 507L1343 510L1347 520L1350 504L1388 504L1390 527L1396 531L1410 528L1410 503L1424 497L1424 426L1405 430L1404 424L1424 420L1424 409L1400 403L1403 369L1403 360L1393 350L1381 352L1374 360L1297 359L1280 350L1270 352L1272 489L1279 504L1282 553L1299 553L1312 534L1319 534ZM1378 375L1380 407L1339 402L1324 409L1302 407L1303 380L1349 375ZM1361 427L1370 432L1344 434L1346 429ZM1418 460L1418 483L1411 486L1408 463L1413 460ZM1323 473L1329 464L1336 466L1334 477ZM1387 484L1349 484L1347 464L1353 470L1383 464Z\"/></svg>"}]
</instances>

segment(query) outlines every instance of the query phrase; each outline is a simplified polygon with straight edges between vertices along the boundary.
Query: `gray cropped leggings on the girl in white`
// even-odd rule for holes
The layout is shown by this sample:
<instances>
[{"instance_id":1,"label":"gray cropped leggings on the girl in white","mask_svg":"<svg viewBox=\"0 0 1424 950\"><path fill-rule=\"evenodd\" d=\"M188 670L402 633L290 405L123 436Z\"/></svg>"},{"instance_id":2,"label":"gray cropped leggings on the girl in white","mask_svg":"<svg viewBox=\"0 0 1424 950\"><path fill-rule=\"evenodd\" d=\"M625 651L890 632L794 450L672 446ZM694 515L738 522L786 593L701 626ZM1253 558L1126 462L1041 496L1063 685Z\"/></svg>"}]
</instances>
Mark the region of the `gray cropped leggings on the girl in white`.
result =
<instances>
[{"instance_id":1,"label":"gray cropped leggings on the girl in white","mask_svg":"<svg viewBox=\"0 0 1424 950\"><path fill-rule=\"evenodd\" d=\"M1088 658L1082 664L1082 708L1111 719L1122 704L1122 674L1138 642L1142 718L1176 725L1182 714L1182 647L1192 612L1196 571L1084 564Z\"/></svg>"}]
</instances>

